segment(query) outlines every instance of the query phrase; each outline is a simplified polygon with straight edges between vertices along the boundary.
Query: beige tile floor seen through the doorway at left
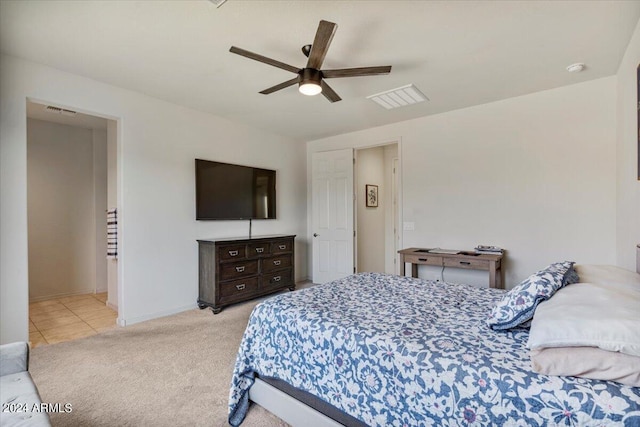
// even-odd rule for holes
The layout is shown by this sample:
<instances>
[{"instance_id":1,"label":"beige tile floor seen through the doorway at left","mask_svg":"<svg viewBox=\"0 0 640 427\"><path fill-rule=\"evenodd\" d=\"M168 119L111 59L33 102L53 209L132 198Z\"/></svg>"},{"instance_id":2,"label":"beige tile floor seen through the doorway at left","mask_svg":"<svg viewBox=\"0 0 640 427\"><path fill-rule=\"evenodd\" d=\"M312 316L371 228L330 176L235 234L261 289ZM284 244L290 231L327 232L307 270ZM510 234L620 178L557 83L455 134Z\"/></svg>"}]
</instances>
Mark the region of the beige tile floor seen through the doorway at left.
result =
<instances>
[{"instance_id":1,"label":"beige tile floor seen through the doorway at left","mask_svg":"<svg viewBox=\"0 0 640 427\"><path fill-rule=\"evenodd\" d=\"M74 295L29 304L31 347L71 341L115 328L118 314L107 294Z\"/></svg>"}]
</instances>

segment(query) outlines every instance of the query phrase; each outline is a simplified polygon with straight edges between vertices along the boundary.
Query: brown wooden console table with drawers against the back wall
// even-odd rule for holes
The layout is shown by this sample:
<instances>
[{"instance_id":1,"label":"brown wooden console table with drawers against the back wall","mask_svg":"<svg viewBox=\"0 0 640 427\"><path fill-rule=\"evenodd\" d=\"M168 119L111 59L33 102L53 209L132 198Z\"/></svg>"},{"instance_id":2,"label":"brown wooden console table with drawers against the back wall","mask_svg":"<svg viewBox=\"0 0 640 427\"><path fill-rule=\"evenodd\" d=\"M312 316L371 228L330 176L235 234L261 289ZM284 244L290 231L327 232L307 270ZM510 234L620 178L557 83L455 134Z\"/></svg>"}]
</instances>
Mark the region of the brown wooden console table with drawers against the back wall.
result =
<instances>
[{"instance_id":1,"label":"brown wooden console table with drawers against the back wall","mask_svg":"<svg viewBox=\"0 0 640 427\"><path fill-rule=\"evenodd\" d=\"M426 248L399 250L400 275L405 275L405 263L411 264L411 277L418 277L418 265L466 268L489 271L489 287L504 289L502 282L502 254L479 254L475 251L457 251L455 254L429 252Z\"/></svg>"}]
</instances>

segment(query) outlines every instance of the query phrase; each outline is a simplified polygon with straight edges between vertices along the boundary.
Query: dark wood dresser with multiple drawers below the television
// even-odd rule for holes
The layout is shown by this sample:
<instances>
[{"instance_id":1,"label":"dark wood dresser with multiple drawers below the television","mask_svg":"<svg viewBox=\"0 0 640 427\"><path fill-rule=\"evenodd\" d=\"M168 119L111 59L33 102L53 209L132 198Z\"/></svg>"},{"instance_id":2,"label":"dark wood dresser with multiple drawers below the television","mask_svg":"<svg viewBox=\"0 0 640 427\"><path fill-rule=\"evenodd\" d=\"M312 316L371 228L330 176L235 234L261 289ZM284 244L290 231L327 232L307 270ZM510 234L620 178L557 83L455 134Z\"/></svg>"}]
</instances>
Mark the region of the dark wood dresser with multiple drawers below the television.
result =
<instances>
[{"instance_id":1,"label":"dark wood dresser with multiple drawers below the television","mask_svg":"<svg viewBox=\"0 0 640 427\"><path fill-rule=\"evenodd\" d=\"M198 240L198 307L223 307L272 292L293 291L295 235Z\"/></svg>"}]
</instances>

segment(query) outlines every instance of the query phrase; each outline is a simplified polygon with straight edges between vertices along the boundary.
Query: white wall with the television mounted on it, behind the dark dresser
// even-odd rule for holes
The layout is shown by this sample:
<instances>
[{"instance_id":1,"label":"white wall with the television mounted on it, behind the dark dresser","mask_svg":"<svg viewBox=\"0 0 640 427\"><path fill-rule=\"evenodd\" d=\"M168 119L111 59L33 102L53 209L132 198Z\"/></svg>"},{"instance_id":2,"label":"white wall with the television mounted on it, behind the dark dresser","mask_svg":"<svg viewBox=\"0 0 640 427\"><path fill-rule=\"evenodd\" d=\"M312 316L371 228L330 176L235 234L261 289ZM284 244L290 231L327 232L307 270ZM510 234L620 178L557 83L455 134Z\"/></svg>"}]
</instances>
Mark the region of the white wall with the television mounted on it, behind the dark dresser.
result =
<instances>
[{"instance_id":1,"label":"white wall with the television mounted on it, behind the dark dresser","mask_svg":"<svg viewBox=\"0 0 640 427\"><path fill-rule=\"evenodd\" d=\"M195 221L194 158L277 170L278 219L253 231L298 235L296 275L307 277L304 144L6 55L0 92L0 342L28 337L28 97L119 120L121 324L195 307L196 239L248 233L245 221Z\"/></svg>"}]
</instances>

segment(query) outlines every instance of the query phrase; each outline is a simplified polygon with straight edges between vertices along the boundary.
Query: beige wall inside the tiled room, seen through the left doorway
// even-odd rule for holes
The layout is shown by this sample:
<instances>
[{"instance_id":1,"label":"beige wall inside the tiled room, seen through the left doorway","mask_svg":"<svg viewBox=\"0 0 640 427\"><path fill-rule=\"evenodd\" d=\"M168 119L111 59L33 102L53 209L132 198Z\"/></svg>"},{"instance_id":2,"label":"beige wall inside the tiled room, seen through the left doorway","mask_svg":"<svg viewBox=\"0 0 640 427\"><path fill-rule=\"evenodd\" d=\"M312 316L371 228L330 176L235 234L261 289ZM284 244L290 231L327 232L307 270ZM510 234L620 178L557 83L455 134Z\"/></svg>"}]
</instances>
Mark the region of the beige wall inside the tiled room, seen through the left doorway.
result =
<instances>
[{"instance_id":1,"label":"beige wall inside the tiled room, seen through the left doorway","mask_svg":"<svg viewBox=\"0 0 640 427\"><path fill-rule=\"evenodd\" d=\"M96 257L96 199L106 187L99 195L94 185L106 179L94 171L106 165L106 135L34 119L27 133L29 299L93 293L105 265Z\"/></svg>"}]
</instances>

